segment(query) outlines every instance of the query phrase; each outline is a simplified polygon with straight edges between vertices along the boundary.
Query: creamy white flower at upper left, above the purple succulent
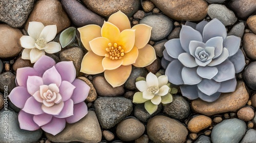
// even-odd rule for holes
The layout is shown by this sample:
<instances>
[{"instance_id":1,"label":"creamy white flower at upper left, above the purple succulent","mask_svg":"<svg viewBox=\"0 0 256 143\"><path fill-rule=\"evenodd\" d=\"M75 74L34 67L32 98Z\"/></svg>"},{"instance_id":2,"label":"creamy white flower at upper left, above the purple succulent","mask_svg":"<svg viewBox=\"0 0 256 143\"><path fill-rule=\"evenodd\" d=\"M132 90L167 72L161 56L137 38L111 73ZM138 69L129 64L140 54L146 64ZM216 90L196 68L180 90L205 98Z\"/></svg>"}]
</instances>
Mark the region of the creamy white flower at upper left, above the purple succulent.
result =
<instances>
[{"instance_id":1,"label":"creamy white flower at upper left, above the purple succulent","mask_svg":"<svg viewBox=\"0 0 256 143\"><path fill-rule=\"evenodd\" d=\"M20 44L25 49L22 52L22 59L36 62L46 53L53 54L61 50L61 46L52 40L57 34L56 25L44 26L41 22L29 22L28 34L20 37ZM52 41L52 42L50 42Z\"/></svg>"}]
</instances>

